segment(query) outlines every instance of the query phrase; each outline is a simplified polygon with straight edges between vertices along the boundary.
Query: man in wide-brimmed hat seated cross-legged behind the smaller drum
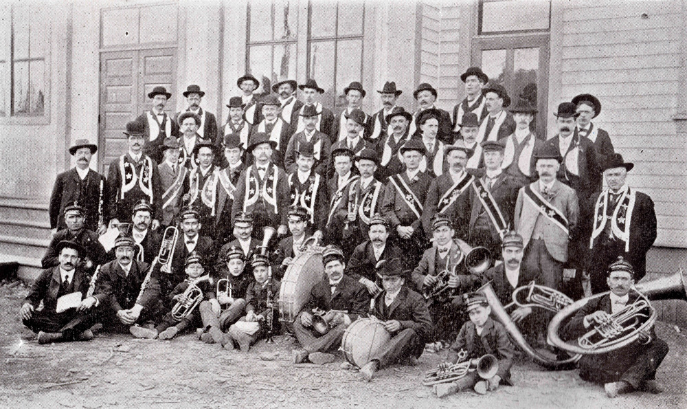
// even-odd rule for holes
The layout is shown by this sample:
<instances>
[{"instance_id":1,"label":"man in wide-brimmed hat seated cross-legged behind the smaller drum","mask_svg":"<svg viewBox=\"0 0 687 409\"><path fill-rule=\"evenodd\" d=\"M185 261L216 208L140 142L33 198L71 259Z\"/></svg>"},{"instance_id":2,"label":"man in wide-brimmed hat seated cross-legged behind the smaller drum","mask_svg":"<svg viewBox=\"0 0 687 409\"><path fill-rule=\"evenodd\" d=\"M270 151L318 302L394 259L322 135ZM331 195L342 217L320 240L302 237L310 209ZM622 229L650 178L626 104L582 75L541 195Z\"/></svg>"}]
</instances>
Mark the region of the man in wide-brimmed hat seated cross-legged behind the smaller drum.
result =
<instances>
[{"instance_id":1,"label":"man in wide-brimmed hat seated cross-legged behind the smaller drum","mask_svg":"<svg viewBox=\"0 0 687 409\"><path fill-rule=\"evenodd\" d=\"M409 364L423 354L425 342L431 338L432 322L425 300L405 286L401 261L388 260L379 270L384 291L376 298L374 315L384 321L392 338L360 373L370 381L376 371L405 358Z\"/></svg>"}]
</instances>

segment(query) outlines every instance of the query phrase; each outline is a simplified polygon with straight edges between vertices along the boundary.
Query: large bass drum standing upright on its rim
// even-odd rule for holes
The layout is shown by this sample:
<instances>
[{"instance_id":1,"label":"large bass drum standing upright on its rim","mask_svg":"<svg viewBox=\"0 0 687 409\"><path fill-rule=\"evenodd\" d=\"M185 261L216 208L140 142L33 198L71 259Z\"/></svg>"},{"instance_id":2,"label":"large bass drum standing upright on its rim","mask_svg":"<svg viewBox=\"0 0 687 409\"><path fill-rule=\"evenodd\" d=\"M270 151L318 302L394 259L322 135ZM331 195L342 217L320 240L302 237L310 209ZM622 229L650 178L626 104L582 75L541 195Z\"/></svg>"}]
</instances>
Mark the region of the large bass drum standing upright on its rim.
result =
<instances>
[{"instance_id":1,"label":"large bass drum standing upright on its rim","mask_svg":"<svg viewBox=\"0 0 687 409\"><path fill-rule=\"evenodd\" d=\"M286 269L279 290L279 316L291 331L291 324L310 298L315 284L324 280L322 250L313 247L301 252Z\"/></svg>"}]
</instances>

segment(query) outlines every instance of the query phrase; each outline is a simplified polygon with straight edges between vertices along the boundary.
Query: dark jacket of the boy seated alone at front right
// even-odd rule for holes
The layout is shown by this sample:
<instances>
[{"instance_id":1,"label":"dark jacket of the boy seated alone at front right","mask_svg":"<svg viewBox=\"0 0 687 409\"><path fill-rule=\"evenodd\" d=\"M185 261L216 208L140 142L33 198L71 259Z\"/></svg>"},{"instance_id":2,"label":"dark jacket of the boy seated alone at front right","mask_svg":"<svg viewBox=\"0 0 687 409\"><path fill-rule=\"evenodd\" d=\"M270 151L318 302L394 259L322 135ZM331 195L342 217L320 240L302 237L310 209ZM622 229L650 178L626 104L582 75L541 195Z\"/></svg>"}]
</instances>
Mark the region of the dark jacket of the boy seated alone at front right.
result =
<instances>
[{"instance_id":1,"label":"dark jacket of the boy seated alone at front right","mask_svg":"<svg viewBox=\"0 0 687 409\"><path fill-rule=\"evenodd\" d=\"M477 341L478 339L479 341ZM501 377L504 384L510 385L510 367L513 366L515 347L510 343L510 338L508 338L508 332L506 332L504 325L491 318L487 318L484 323L482 335L477 335L477 329L472 321L463 324L458 337L451 344L447 361L455 363L458 360L458 352L461 349L467 351L469 359L479 359L480 356L475 354L475 342L482 342L486 352L496 357L499 361L499 370L496 375Z\"/></svg>"}]
</instances>

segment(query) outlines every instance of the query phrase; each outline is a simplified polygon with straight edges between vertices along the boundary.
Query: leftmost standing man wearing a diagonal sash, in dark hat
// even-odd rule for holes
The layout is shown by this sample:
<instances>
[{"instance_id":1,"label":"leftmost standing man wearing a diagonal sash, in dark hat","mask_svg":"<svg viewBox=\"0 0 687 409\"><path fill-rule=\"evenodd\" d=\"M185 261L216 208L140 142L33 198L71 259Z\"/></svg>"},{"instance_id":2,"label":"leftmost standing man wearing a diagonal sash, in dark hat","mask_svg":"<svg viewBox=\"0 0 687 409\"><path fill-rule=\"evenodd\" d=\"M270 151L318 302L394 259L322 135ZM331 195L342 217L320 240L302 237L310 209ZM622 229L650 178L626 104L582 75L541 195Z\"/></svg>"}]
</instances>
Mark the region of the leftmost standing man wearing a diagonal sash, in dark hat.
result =
<instances>
[{"instance_id":1,"label":"leftmost standing man wearing a diagonal sash, in dark hat","mask_svg":"<svg viewBox=\"0 0 687 409\"><path fill-rule=\"evenodd\" d=\"M176 138L168 137L160 146L164 160L157 165L162 187L162 219L161 224L170 226L177 223L181 211L183 197L183 182L188 175L188 168L181 162L181 145Z\"/></svg>"}]
</instances>

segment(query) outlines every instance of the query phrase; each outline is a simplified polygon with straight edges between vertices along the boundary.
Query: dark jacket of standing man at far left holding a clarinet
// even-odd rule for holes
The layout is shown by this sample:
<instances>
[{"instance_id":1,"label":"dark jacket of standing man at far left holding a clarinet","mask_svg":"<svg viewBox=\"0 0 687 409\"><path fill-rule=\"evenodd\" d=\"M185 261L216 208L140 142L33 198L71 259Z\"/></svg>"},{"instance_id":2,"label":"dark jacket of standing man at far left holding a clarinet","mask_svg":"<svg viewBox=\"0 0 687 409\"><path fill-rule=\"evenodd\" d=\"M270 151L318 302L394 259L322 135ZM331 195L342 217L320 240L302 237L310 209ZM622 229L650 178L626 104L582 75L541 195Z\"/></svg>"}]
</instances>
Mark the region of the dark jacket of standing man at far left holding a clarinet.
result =
<instances>
[{"instance_id":1,"label":"dark jacket of standing man at far left holding a clarinet","mask_svg":"<svg viewBox=\"0 0 687 409\"><path fill-rule=\"evenodd\" d=\"M110 185L100 173L91 169L86 179L81 180L76 168L57 175L50 195L50 228L62 230L65 224L65 208L74 202L86 212L85 226L93 232L98 231L98 212L100 210L100 181L102 181L102 217L105 225L110 220Z\"/></svg>"}]
</instances>

